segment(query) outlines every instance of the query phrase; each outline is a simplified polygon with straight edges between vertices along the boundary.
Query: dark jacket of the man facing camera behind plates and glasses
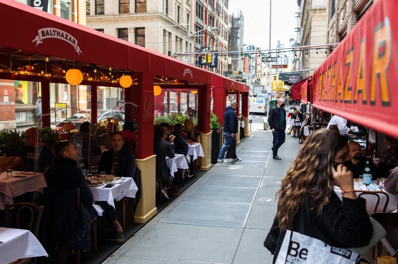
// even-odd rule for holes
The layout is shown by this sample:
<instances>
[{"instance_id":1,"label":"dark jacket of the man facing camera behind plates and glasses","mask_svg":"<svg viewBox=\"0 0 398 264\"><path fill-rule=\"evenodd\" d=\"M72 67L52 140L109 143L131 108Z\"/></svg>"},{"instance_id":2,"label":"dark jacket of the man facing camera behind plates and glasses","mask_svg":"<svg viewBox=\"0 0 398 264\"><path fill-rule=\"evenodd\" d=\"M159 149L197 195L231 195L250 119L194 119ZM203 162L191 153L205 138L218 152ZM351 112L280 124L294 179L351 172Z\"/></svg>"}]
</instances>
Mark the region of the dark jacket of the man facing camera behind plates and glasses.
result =
<instances>
[{"instance_id":1,"label":"dark jacket of the man facing camera behind plates and glasses","mask_svg":"<svg viewBox=\"0 0 398 264\"><path fill-rule=\"evenodd\" d=\"M98 171L104 171L106 174L112 172L113 166L113 149L106 150L102 153L100 159L100 166ZM135 157L131 150L123 147L117 155L117 170L115 172L116 177L134 177L135 175Z\"/></svg>"}]
</instances>

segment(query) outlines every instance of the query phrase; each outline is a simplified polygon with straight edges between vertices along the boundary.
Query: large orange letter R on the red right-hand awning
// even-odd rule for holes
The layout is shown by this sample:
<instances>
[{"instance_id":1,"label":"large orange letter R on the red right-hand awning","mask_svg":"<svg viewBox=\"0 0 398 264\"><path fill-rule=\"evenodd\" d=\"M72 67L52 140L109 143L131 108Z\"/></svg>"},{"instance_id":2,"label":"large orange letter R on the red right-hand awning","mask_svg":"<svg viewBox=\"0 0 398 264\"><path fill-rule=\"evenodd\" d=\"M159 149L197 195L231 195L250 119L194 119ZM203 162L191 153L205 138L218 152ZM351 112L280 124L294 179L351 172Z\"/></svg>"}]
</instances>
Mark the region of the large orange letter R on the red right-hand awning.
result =
<instances>
[{"instance_id":1,"label":"large orange letter R on the red right-hand awning","mask_svg":"<svg viewBox=\"0 0 398 264\"><path fill-rule=\"evenodd\" d=\"M375 29L371 69L370 104L376 104L377 89L383 106L390 106L390 88L387 70L391 59L391 27L388 17Z\"/></svg>"}]
</instances>

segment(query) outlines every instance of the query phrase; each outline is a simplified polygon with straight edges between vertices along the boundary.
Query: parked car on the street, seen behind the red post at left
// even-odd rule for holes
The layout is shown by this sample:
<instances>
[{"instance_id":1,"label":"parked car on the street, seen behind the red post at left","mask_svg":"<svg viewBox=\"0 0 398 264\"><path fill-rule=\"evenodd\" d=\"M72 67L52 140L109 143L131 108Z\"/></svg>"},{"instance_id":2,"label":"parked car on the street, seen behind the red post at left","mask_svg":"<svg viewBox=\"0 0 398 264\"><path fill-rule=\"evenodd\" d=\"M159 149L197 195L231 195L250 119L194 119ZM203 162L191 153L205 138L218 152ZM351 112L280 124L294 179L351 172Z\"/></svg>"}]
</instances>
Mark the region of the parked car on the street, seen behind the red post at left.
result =
<instances>
[{"instance_id":1,"label":"parked car on the street, seen behind the red post at left","mask_svg":"<svg viewBox=\"0 0 398 264\"><path fill-rule=\"evenodd\" d=\"M97 117L97 122L102 122L106 120L107 118L112 118L116 119L119 124L124 123L124 111L122 110L99 110L98 111L98 117ZM91 122L91 110L86 110L86 111L81 111L73 116L65 119L61 123L55 126L55 130L59 132L60 134L66 133L64 131L64 124L66 122L72 122L73 125L75 125L76 128L79 128L83 122Z\"/></svg>"}]
</instances>

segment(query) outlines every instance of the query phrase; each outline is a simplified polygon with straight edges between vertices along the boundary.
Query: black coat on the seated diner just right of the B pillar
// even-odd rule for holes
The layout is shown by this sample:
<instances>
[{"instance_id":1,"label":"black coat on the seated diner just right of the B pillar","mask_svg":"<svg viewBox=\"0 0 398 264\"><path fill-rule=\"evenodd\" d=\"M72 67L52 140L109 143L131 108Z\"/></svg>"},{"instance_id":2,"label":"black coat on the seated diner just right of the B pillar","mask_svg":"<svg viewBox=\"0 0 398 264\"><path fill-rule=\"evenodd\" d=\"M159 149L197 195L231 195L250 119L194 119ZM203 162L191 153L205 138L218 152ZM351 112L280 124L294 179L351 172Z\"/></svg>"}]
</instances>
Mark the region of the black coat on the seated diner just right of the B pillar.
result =
<instances>
[{"instance_id":1,"label":"black coat on the seated diner just right of the B pillar","mask_svg":"<svg viewBox=\"0 0 398 264\"><path fill-rule=\"evenodd\" d=\"M156 179L169 179L166 156L174 158L174 153L176 153L174 144L160 138L153 140L153 154L156 155Z\"/></svg>"}]
</instances>

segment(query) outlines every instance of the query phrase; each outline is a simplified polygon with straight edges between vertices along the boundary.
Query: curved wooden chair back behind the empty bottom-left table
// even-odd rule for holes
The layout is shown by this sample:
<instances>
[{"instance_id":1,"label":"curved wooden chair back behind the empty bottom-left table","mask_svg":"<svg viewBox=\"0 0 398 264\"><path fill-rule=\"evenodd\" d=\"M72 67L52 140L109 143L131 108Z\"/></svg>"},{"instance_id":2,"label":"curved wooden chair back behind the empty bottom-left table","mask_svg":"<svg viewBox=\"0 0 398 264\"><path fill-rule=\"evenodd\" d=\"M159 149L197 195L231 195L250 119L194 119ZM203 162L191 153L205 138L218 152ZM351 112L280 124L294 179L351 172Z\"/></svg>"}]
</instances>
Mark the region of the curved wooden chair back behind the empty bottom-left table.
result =
<instances>
[{"instance_id":1,"label":"curved wooden chair back behind the empty bottom-left table","mask_svg":"<svg viewBox=\"0 0 398 264\"><path fill-rule=\"evenodd\" d=\"M16 210L16 228L22 228L22 223L21 223L21 216L25 216L24 214L21 214L23 211L24 213L27 211L30 215L28 217L29 222L27 225L27 229L33 233L35 237L39 234L39 228L40 228L40 221L41 221L41 216L43 214L43 206L38 206L34 203L30 202L17 202L14 204L5 204L4 210L5 210L5 227L10 227L9 223L9 218L10 218L10 210L15 209Z\"/></svg>"}]
</instances>

